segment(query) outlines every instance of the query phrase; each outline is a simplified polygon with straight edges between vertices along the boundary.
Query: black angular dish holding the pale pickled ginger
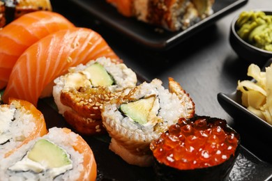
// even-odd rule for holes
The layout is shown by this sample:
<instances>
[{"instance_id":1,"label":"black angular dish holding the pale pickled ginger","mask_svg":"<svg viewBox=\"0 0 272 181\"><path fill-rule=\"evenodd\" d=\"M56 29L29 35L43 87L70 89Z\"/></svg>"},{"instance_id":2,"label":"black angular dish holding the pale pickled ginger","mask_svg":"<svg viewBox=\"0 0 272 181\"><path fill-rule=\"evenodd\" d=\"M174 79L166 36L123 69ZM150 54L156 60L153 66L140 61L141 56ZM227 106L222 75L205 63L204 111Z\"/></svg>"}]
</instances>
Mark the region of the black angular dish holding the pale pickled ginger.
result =
<instances>
[{"instance_id":1,"label":"black angular dish holding the pale pickled ginger","mask_svg":"<svg viewBox=\"0 0 272 181\"><path fill-rule=\"evenodd\" d=\"M271 63L272 58L266 62L262 71ZM252 81L255 80L252 79ZM229 116L234 118L235 129L242 134L243 144L250 148L250 151L254 152L257 157L272 163L272 125L243 107L240 91L218 93L218 102L229 113Z\"/></svg>"}]
</instances>

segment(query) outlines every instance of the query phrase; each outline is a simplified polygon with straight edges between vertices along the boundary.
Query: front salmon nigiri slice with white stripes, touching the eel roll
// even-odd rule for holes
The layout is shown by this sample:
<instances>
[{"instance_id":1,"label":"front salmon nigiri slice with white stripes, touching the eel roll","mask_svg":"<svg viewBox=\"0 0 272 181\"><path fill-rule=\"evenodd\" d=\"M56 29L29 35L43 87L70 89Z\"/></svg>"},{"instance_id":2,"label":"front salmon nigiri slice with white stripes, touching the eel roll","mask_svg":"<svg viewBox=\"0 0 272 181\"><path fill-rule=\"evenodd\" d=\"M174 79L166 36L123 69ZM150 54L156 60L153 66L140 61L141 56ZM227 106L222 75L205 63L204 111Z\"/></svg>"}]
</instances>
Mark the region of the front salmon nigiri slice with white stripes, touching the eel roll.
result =
<instances>
[{"instance_id":1,"label":"front salmon nigiri slice with white stripes, touching the eel roll","mask_svg":"<svg viewBox=\"0 0 272 181\"><path fill-rule=\"evenodd\" d=\"M114 62L119 57L107 42L91 29L73 28L52 33L29 47L18 58L3 93L36 105L39 97L52 95L53 81L68 68L105 56Z\"/></svg>"}]
</instances>

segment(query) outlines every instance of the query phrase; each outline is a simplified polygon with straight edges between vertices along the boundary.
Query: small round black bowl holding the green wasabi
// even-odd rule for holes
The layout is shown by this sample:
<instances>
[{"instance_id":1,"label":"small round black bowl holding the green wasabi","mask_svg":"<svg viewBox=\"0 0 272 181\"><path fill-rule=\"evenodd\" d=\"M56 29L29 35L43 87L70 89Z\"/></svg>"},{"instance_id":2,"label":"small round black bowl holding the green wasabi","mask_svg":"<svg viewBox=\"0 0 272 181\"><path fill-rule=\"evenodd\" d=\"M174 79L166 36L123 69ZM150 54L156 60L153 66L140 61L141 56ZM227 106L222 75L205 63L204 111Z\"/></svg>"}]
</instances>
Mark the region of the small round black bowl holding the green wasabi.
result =
<instances>
[{"instance_id":1,"label":"small round black bowl holding the green wasabi","mask_svg":"<svg viewBox=\"0 0 272 181\"><path fill-rule=\"evenodd\" d=\"M257 10L254 10L257 11ZM266 15L272 15L272 10L262 10ZM236 33L237 26L236 21L239 16L235 17L232 20L229 42L234 52L245 61L250 63L255 63L257 65L264 65L269 58L272 58L272 52L266 51L264 49L257 48L253 45L250 45L245 40L241 39Z\"/></svg>"}]
</instances>

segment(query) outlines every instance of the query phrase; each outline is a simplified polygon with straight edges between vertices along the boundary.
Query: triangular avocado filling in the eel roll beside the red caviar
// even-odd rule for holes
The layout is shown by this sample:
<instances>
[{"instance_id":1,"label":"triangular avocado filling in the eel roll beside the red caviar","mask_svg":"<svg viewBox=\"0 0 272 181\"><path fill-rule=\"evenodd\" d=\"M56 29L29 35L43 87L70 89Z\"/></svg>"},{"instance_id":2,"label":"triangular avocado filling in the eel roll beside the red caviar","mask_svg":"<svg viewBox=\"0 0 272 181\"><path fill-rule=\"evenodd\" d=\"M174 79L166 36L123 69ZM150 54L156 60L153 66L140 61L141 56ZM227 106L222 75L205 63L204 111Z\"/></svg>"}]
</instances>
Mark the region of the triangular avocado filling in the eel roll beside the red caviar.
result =
<instances>
[{"instance_id":1,"label":"triangular avocado filling in the eel roll beside the red caviar","mask_svg":"<svg viewBox=\"0 0 272 181\"><path fill-rule=\"evenodd\" d=\"M153 107L156 97L147 97L134 102L121 104L120 111L137 123L144 125L148 121L149 113Z\"/></svg>"}]
</instances>

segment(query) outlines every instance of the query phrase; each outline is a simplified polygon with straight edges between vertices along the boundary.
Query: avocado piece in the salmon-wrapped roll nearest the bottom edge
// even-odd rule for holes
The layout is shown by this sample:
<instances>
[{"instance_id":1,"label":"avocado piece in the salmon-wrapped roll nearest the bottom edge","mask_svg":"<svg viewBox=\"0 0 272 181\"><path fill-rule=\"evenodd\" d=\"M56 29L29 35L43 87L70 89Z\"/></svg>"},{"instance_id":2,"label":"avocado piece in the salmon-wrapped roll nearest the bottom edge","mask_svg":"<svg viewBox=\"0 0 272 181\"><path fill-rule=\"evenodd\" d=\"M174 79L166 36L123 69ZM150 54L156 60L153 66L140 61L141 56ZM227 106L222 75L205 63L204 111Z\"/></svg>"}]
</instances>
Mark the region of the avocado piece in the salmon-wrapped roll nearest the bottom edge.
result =
<instances>
[{"instance_id":1,"label":"avocado piece in the salmon-wrapped roll nearest the bottom edge","mask_svg":"<svg viewBox=\"0 0 272 181\"><path fill-rule=\"evenodd\" d=\"M59 168L72 164L65 150L46 139L38 140L29 151L27 157L33 162L46 165L47 168Z\"/></svg>"}]
</instances>

